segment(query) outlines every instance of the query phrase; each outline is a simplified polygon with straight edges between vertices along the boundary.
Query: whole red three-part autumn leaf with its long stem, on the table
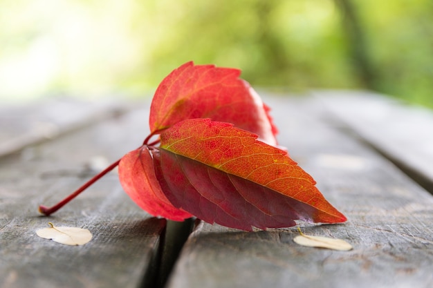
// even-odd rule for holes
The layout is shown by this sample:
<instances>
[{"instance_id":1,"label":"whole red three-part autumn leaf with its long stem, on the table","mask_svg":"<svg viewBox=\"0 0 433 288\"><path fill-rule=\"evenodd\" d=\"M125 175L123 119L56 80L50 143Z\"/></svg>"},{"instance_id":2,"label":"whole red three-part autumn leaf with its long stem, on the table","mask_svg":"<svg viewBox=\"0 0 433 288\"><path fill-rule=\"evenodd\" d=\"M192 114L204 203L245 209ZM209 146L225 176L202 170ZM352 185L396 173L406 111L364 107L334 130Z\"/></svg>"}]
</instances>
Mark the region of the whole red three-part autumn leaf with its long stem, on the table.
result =
<instances>
[{"instance_id":1,"label":"whole red three-part autumn leaf with its long stem, on the table","mask_svg":"<svg viewBox=\"0 0 433 288\"><path fill-rule=\"evenodd\" d=\"M295 220L344 222L313 177L276 147L268 106L239 74L192 62L174 70L156 90L143 144L39 211L54 213L119 166L125 192L154 216L194 215L246 231L291 227Z\"/></svg>"}]
</instances>

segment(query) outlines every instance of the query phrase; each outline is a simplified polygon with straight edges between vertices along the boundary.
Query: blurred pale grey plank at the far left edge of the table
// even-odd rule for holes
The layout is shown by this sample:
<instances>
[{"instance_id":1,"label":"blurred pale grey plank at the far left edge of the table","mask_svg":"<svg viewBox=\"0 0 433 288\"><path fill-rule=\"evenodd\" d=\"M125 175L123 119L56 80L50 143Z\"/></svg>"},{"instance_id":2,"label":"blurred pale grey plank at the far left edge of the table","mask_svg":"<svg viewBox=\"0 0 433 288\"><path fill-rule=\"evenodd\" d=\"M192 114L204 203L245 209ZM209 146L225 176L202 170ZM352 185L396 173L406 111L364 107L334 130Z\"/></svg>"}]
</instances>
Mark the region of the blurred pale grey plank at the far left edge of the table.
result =
<instances>
[{"instance_id":1,"label":"blurred pale grey plank at the far left edge of the table","mask_svg":"<svg viewBox=\"0 0 433 288\"><path fill-rule=\"evenodd\" d=\"M127 106L114 100L55 98L26 105L3 104L0 106L0 157L126 110Z\"/></svg>"}]
</instances>

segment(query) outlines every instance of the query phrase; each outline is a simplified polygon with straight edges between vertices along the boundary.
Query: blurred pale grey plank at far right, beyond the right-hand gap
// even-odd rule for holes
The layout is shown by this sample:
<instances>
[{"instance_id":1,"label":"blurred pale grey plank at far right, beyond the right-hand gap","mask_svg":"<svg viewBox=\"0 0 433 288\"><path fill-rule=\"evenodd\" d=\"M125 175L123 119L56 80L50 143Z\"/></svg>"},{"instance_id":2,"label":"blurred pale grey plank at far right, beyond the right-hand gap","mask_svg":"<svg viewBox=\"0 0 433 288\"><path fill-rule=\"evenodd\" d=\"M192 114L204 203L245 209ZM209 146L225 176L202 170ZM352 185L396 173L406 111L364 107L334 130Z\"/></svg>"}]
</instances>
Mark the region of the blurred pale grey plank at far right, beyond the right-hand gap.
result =
<instances>
[{"instance_id":1,"label":"blurred pale grey plank at far right, beyond the right-hand gap","mask_svg":"<svg viewBox=\"0 0 433 288\"><path fill-rule=\"evenodd\" d=\"M361 91L316 91L342 124L433 193L433 113Z\"/></svg>"}]
</instances>

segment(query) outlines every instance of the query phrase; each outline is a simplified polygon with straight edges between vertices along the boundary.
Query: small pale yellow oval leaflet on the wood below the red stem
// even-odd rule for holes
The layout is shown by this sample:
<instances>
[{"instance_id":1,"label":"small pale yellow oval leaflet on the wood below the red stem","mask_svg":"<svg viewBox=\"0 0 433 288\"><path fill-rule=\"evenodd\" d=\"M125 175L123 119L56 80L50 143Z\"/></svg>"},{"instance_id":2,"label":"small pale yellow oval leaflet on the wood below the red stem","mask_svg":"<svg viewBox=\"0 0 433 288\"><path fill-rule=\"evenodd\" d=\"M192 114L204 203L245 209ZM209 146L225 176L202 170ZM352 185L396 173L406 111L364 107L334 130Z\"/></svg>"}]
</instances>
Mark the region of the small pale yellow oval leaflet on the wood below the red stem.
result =
<instances>
[{"instance_id":1,"label":"small pale yellow oval leaflet on the wood below the red stem","mask_svg":"<svg viewBox=\"0 0 433 288\"><path fill-rule=\"evenodd\" d=\"M88 229L79 227L55 227L53 223L48 222L50 227L42 228L36 231L40 238L50 239L54 242L65 245L84 245L92 240L92 234Z\"/></svg>"}]
</instances>

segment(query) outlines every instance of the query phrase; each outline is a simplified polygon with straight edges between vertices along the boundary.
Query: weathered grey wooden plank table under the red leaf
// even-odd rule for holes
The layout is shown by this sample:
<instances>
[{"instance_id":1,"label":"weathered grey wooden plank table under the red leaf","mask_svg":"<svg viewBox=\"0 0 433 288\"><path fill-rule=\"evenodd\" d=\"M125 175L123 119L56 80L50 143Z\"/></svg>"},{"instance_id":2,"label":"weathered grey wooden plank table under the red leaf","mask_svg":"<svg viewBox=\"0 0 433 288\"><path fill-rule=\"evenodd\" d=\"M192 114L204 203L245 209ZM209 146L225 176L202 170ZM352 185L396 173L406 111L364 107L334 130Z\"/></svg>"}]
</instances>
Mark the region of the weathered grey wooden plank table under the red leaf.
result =
<instances>
[{"instance_id":1,"label":"weathered grey wooden plank table under the red leaf","mask_svg":"<svg viewBox=\"0 0 433 288\"><path fill-rule=\"evenodd\" d=\"M349 218L302 230L353 250L302 247L295 227L246 233L151 218L116 171L42 217L39 204L148 133L149 100L52 99L0 107L0 287L433 287L433 113L364 92L260 94L279 143ZM35 236L48 221L94 238L70 247Z\"/></svg>"}]
</instances>

